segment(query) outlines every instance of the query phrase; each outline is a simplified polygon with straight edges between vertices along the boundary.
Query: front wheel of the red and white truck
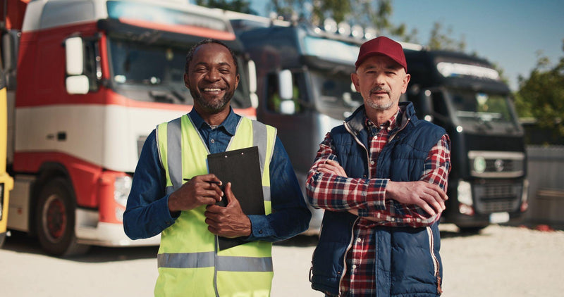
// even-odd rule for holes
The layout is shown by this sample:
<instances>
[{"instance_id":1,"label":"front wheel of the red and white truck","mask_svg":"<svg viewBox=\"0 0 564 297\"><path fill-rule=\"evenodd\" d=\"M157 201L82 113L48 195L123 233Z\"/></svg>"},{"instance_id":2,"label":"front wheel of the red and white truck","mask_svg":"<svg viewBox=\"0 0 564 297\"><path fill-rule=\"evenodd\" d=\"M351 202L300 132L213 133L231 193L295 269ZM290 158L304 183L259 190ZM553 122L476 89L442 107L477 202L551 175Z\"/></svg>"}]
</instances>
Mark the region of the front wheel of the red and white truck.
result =
<instances>
[{"instance_id":1,"label":"front wheel of the red and white truck","mask_svg":"<svg viewBox=\"0 0 564 297\"><path fill-rule=\"evenodd\" d=\"M44 185L37 201L37 237L44 251L56 256L82 255L90 246L77 243L76 203L71 186L63 178Z\"/></svg>"}]
</instances>

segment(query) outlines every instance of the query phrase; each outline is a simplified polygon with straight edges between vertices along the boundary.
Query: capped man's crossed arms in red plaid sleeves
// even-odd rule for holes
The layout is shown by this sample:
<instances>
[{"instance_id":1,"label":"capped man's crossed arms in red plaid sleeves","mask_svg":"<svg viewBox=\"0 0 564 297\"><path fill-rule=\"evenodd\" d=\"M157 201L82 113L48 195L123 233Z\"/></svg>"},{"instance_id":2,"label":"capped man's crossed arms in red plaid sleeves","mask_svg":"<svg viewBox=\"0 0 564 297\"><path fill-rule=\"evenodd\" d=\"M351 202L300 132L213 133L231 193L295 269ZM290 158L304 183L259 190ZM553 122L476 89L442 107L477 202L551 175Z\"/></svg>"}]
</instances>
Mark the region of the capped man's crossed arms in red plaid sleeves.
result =
<instances>
[{"instance_id":1,"label":"capped man's crossed arms in red plaid sleeves","mask_svg":"<svg viewBox=\"0 0 564 297\"><path fill-rule=\"evenodd\" d=\"M328 134L309 170L306 191L314 208L348 211L384 226L423 227L439 220L450 171L447 135L429 151L419 181L350 178L336 161Z\"/></svg>"}]
</instances>

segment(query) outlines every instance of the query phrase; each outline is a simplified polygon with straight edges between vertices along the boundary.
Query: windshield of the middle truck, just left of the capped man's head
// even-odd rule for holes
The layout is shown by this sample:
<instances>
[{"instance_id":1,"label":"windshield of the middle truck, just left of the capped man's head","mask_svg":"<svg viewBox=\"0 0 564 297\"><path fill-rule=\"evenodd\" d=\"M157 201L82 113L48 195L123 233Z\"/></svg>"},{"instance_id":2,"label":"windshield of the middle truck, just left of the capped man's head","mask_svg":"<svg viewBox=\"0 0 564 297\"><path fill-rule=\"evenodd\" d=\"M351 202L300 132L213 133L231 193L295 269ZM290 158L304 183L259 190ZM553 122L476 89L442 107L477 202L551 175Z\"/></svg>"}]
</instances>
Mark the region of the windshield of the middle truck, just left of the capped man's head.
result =
<instances>
[{"instance_id":1,"label":"windshield of the middle truck, just left of the capped man's head","mask_svg":"<svg viewBox=\"0 0 564 297\"><path fill-rule=\"evenodd\" d=\"M312 71L315 105L320 113L336 120L344 120L362 105L362 96L355 91L350 75Z\"/></svg>"}]
</instances>

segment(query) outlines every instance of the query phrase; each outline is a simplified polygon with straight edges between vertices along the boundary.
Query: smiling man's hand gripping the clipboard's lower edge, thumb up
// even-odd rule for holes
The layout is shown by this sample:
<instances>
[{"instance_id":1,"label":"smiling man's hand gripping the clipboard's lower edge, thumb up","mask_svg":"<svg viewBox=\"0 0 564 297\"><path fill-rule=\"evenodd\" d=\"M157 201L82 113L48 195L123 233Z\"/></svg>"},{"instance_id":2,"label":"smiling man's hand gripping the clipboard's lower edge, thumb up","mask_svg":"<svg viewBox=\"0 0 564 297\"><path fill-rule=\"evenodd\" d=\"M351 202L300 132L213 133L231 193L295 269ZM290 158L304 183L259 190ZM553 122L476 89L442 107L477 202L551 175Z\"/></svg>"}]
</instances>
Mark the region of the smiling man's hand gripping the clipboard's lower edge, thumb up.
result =
<instances>
[{"instance_id":1,"label":"smiling man's hand gripping the clipboard's lower edge, thumb up","mask_svg":"<svg viewBox=\"0 0 564 297\"><path fill-rule=\"evenodd\" d=\"M251 234L251 221L249 217L243 213L239 201L231 191L231 182L228 182L225 187L225 194L227 198L227 206L207 206L206 224L207 229L213 234L234 238L239 236L250 236Z\"/></svg>"}]
</instances>

